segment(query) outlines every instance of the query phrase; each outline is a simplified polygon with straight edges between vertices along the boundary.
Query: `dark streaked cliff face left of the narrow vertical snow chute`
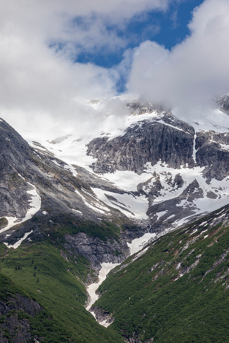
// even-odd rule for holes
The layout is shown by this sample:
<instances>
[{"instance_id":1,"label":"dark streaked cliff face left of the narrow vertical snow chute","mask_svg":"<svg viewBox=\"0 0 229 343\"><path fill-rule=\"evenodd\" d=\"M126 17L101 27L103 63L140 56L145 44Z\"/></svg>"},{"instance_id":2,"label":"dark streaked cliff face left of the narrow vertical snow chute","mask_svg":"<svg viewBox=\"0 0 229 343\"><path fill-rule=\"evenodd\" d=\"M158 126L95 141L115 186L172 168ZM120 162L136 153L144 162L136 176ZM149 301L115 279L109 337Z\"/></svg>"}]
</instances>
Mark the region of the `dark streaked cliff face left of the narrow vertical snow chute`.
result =
<instances>
[{"instance_id":1,"label":"dark streaked cliff face left of the narrow vertical snow chute","mask_svg":"<svg viewBox=\"0 0 229 343\"><path fill-rule=\"evenodd\" d=\"M127 128L123 136L95 138L88 144L88 155L97 158L92 164L96 173L132 170L141 174L146 163L162 161L171 168L194 166L194 128L170 112L155 120L144 120Z\"/></svg>"}]
</instances>

